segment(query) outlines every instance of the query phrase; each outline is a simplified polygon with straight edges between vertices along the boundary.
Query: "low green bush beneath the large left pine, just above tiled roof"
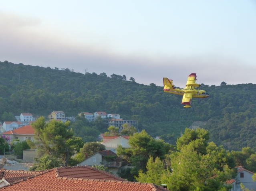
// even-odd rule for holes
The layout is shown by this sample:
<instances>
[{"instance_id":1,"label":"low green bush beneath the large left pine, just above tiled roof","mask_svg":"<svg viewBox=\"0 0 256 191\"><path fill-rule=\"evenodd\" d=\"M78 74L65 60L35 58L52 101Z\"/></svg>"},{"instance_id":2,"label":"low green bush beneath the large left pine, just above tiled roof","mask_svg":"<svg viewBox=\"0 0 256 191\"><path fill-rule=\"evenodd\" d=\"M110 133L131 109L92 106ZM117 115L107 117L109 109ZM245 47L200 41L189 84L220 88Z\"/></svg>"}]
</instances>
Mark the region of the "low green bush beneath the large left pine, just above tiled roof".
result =
<instances>
[{"instance_id":1,"label":"low green bush beneath the large left pine, just above tiled roof","mask_svg":"<svg viewBox=\"0 0 256 191\"><path fill-rule=\"evenodd\" d=\"M50 158L50 156L43 156L41 158L34 158L36 161L33 163L33 166L30 167L29 171L36 171L36 170L46 170L46 169L53 169L54 167L60 167L60 161L54 158Z\"/></svg>"}]
</instances>

